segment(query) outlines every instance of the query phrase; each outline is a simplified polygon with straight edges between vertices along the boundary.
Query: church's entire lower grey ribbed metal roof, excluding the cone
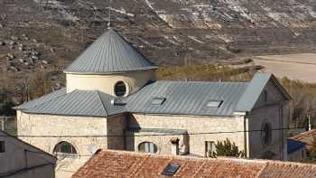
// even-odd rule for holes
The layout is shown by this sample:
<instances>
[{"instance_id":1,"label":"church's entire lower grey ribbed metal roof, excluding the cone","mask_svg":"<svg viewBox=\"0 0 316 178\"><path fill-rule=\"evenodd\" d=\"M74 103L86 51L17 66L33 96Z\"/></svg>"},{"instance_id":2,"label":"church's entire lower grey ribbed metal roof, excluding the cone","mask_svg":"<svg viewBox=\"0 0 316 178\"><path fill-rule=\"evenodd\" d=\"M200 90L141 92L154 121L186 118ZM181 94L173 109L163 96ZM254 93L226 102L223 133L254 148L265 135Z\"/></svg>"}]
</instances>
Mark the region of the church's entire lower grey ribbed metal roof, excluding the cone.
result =
<instances>
[{"instance_id":1,"label":"church's entire lower grey ribbed metal roof, excluding the cone","mask_svg":"<svg viewBox=\"0 0 316 178\"><path fill-rule=\"evenodd\" d=\"M234 112L251 111L272 74L258 73L250 82L156 81L135 94L120 98L124 106L110 103L111 97L97 90L60 89L15 109L26 113L107 117L124 112L192 116L232 116ZM284 99L290 96L280 84ZM163 99L157 104L153 98ZM219 101L219 107L209 102Z\"/></svg>"}]
</instances>

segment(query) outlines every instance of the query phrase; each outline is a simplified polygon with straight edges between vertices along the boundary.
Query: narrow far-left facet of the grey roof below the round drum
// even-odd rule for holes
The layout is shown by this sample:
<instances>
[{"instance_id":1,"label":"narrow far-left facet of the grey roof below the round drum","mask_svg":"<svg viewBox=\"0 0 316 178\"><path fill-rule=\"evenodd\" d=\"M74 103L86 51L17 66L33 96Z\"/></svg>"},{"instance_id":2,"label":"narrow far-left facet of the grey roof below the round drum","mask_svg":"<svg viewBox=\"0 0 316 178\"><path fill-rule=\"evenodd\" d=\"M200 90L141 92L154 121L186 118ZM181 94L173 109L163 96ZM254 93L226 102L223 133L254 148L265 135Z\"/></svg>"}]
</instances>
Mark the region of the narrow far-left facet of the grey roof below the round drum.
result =
<instances>
[{"instance_id":1,"label":"narrow far-left facet of the grey roof below the round drum","mask_svg":"<svg viewBox=\"0 0 316 178\"><path fill-rule=\"evenodd\" d=\"M27 109L27 108L32 108L32 107L35 107L37 105L41 105L42 103L45 103L47 101L50 101L51 99L59 98L59 97L66 95L66 94L67 94L66 88L59 89L59 90L56 90L54 92L51 92L50 94L44 95L41 98L35 98L32 101L25 102L20 106L14 107L14 109L23 110L23 109Z\"/></svg>"}]
</instances>

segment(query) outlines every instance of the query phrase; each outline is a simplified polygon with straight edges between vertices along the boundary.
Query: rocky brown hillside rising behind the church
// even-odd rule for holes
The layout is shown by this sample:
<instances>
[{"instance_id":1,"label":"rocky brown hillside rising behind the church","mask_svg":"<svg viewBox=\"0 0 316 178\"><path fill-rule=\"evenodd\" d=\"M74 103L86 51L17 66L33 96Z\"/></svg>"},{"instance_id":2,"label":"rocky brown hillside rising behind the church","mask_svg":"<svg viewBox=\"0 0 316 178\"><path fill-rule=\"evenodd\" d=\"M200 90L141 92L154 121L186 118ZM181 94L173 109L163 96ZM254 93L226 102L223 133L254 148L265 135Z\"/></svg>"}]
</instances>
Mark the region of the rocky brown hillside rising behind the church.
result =
<instances>
[{"instance_id":1,"label":"rocky brown hillside rising behind the church","mask_svg":"<svg viewBox=\"0 0 316 178\"><path fill-rule=\"evenodd\" d=\"M314 0L1 0L1 83L60 69L112 26L159 65L314 52ZM8 82L4 82L4 81Z\"/></svg>"}]
</instances>

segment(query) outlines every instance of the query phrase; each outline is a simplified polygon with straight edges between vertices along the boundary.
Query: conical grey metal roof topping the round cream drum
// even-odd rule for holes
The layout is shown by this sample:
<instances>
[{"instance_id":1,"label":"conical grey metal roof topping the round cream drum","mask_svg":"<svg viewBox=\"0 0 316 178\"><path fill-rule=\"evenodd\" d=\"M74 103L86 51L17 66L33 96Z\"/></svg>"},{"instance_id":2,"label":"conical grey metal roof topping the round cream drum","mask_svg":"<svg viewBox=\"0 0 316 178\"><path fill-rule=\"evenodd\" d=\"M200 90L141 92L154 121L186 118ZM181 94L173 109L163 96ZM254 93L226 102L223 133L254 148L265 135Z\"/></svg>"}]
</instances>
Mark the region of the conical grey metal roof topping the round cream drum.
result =
<instances>
[{"instance_id":1,"label":"conical grey metal roof topping the round cream drum","mask_svg":"<svg viewBox=\"0 0 316 178\"><path fill-rule=\"evenodd\" d=\"M153 62L147 60L116 31L108 29L64 71L66 73L109 73L156 68Z\"/></svg>"}]
</instances>

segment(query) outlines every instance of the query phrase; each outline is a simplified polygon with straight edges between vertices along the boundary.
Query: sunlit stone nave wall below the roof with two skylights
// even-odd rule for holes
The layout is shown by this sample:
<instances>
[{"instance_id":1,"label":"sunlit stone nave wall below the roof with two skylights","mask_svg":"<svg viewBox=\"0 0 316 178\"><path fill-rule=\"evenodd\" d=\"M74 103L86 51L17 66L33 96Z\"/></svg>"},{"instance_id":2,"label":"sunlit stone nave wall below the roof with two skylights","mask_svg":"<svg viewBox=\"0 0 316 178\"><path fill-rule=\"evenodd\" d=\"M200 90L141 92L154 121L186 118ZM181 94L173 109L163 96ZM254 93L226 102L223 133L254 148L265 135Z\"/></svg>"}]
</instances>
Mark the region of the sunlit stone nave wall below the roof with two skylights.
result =
<instances>
[{"instance_id":1,"label":"sunlit stone nave wall below the roof with two skylights","mask_svg":"<svg viewBox=\"0 0 316 178\"><path fill-rule=\"evenodd\" d=\"M213 132L231 132L244 130L244 117L188 117L188 116L154 116L134 114L130 121L130 126L140 126L144 128L169 128L169 129L185 129L188 131L189 151L191 155L205 155L205 141L225 140L228 138L235 142L239 150L245 149L244 133L221 133L221 134L200 134L196 133L213 133ZM146 136L146 138L135 138L134 145L137 146L145 141L153 142L162 150L162 154L168 154L169 151L163 151L163 146L169 142L161 136ZM132 138L134 139L134 138ZM133 142L129 142L133 143Z\"/></svg>"}]
</instances>

